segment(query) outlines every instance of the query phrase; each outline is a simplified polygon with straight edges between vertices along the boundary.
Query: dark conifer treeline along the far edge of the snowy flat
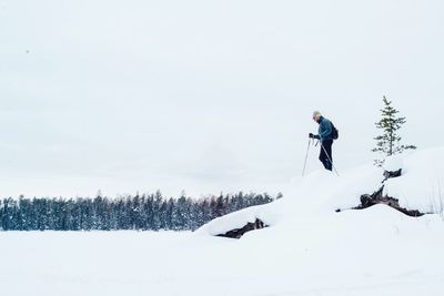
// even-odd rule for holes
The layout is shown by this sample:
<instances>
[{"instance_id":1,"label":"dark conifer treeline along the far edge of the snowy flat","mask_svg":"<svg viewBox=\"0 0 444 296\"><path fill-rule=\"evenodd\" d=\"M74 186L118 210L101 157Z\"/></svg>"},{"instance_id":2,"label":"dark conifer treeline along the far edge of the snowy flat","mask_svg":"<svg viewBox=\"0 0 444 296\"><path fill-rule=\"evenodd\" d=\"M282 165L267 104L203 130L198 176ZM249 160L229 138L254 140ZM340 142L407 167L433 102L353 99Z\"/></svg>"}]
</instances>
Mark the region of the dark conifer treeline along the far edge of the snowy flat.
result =
<instances>
[{"instance_id":1,"label":"dark conifer treeline along the far edge of the snowy flat","mask_svg":"<svg viewBox=\"0 0 444 296\"><path fill-rule=\"evenodd\" d=\"M120 198L0 200L1 231L194 231L209 221L275 198L268 194L165 198L160 192Z\"/></svg>"}]
</instances>

